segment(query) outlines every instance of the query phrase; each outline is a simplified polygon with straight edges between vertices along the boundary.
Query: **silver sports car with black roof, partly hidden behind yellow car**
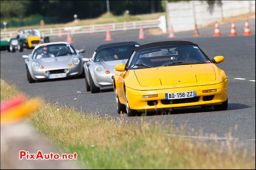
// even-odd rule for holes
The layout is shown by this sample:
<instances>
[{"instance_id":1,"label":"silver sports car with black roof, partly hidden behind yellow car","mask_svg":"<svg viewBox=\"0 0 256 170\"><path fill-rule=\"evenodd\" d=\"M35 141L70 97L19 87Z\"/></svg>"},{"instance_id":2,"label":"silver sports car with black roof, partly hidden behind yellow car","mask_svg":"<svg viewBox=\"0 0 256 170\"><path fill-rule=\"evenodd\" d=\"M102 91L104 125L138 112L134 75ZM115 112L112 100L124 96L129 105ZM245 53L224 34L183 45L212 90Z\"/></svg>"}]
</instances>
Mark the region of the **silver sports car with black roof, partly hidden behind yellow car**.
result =
<instances>
[{"instance_id":1,"label":"silver sports car with black roof, partly hidden behind yellow car","mask_svg":"<svg viewBox=\"0 0 256 170\"><path fill-rule=\"evenodd\" d=\"M100 87L113 86L115 66L125 64L138 42L117 42L96 48L92 58L83 58L86 91L100 92Z\"/></svg>"}]
</instances>

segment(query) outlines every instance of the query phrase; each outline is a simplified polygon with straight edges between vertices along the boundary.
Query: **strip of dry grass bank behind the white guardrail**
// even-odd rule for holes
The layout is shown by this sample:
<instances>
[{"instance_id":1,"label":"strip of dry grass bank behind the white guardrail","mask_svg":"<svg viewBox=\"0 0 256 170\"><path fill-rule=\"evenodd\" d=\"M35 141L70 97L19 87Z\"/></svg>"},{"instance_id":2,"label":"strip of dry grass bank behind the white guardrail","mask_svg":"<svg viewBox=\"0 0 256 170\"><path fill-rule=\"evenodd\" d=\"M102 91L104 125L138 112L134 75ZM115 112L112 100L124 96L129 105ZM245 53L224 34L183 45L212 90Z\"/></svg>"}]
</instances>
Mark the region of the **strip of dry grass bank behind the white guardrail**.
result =
<instances>
[{"instance_id":1,"label":"strip of dry grass bank behind the white guardrail","mask_svg":"<svg viewBox=\"0 0 256 170\"><path fill-rule=\"evenodd\" d=\"M8 28L7 31L18 31L20 29L41 29L41 28L56 28L56 27L65 27L65 26L84 26L90 24L106 24L106 23L115 23L115 22L128 22L128 21L138 21L138 20L148 20L148 19L157 19L161 15L164 15L164 12L154 13L154 14L143 14L143 15L121 15L115 16L111 13L105 13L101 15L99 18L92 18L92 19L78 19L76 22L69 22L65 24L49 24L45 26L35 25L35 26L22 26L22 27L11 27ZM1 29L4 31L4 29Z\"/></svg>"}]
</instances>

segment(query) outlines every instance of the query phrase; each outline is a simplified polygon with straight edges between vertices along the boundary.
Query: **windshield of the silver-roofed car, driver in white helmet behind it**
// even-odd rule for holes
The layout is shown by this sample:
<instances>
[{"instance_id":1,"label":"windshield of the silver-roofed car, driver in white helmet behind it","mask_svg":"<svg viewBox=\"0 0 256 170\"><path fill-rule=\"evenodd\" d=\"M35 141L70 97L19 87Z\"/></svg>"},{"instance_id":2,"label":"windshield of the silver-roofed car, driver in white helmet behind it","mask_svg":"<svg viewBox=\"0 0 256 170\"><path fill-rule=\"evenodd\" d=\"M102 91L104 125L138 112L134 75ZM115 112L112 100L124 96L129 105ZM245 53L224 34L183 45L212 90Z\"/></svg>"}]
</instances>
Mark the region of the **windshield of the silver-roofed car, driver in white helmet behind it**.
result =
<instances>
[{"instance_id":1,"label":"windshield of the silver-roofed car, driver in white helmet behind it","mask_svg":"<svg viewBox=\"0 0 256 170\"><path fill-rule=\"evenodd\" d=\"M74 48L69 44L53 44L37 48L33 53L33 59L58 57L76 54Z\"/></svg>"}]
</instances>

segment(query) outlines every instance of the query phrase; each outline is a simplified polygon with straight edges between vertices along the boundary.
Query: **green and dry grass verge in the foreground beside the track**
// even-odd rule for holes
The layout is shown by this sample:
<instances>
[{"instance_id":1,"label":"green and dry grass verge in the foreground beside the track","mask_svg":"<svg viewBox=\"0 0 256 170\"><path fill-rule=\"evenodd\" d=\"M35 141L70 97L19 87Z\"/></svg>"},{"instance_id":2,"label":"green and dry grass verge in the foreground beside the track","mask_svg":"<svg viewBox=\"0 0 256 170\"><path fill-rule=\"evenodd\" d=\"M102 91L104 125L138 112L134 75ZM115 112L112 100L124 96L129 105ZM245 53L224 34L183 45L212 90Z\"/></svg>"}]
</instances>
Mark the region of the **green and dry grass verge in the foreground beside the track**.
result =
<instances>
[{"instance_id":1,"label":"green and dry grass verge in the foreground beside the track","mask_svg":"<svg viewBox=\"0 0 256 170\"><path fill-rule=\"evenodd\" d=\"M2 82L1 99L7 95L6 99L10 96L6 88L16 89ZM84 168L255 169L255 151L241 151L230 141L222 147L214 141L168 137L164 134L177 133L171 123L146 123L143 117L141 123L127 123L125 118L102 118L52 103L44 104L29 119L60 152L77 152Z\"/></svg>"}]
</instances>

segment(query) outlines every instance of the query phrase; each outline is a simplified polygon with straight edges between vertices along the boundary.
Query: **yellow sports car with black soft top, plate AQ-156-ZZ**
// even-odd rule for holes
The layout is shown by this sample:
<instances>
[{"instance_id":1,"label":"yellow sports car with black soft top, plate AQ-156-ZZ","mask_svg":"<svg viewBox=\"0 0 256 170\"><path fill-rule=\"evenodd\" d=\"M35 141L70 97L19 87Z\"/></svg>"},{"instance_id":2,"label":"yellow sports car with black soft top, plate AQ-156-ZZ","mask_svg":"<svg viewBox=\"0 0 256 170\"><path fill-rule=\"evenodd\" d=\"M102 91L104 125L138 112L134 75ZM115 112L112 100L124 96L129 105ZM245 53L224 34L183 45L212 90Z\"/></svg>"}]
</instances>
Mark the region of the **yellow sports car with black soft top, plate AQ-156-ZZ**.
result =
<instances>
[{"instance_id":1,"label":"yellow sports car with black soft top, plate AQ-156-ZZ","mask_svg":"<svg viewBox=\"0 0 256 170\"><path fill-rule=\"evenodd\" d=\"M113 78L117 112L128 116L145 110L189 106L228 107L228 79L208 56L189 41L162 41L134 49ZM215 63L215 64L214 64Z\"/></svg>"}]
</instances>

